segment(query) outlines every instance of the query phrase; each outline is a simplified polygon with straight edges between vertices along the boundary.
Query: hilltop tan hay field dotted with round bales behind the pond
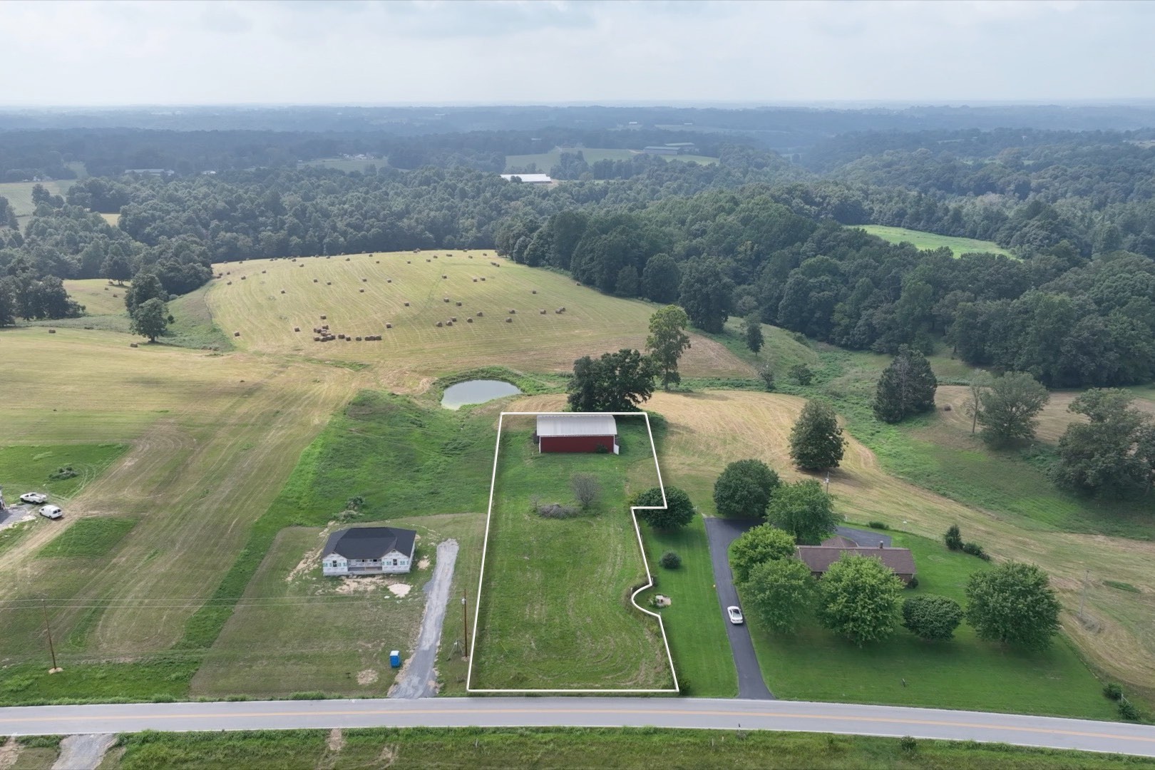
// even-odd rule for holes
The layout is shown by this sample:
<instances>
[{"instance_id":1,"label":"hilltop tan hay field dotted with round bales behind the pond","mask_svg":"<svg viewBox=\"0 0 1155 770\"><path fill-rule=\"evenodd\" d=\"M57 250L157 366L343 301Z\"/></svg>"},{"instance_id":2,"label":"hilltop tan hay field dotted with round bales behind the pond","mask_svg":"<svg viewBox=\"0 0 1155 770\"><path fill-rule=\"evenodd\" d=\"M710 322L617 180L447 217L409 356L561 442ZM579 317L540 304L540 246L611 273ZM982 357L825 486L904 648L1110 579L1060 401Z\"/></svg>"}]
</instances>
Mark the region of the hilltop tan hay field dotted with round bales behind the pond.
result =
<instances>
[{"instance_id":1,"label":"hilltop tan hay field dotted with round bales behind the pond","mask_svg":"<svg viewBox=\"0 0 1155 770\"><path fill-rule=\"evenodd\" d=\"M214 279L206 299L226 335L240 332L231 337L239 349L385 364L380 377L404 390L476 366L568 372L584 354L642 349L649 316L657 309L492 252L249 260L214 270L225 275ZM556 313L560 307L565 312ZM457 320L447 326L453 317ZM322 324L334 335L382 339L314 342L313 329ZM680 366L684 375L753 375L722 345L698 335L692 339Z\"/></svg>"}]
</instances>

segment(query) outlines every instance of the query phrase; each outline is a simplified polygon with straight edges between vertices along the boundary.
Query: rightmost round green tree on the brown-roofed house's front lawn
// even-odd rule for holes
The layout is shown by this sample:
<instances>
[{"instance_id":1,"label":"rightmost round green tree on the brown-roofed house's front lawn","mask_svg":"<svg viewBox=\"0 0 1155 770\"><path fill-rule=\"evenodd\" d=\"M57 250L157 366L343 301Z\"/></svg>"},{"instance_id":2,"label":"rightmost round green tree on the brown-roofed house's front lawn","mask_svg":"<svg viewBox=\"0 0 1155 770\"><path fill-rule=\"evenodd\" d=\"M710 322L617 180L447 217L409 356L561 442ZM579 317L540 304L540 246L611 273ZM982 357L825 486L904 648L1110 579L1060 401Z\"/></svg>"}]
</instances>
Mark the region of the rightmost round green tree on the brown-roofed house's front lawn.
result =
<instances>
[{"instance_id":1,"label":"rightmost round green tree on the brown-roofed house's front lawn","mask_svg":"<svg viewBox=\"0 0 1155 770\"><path fill-rule=\"evenodd\" d=\"M1059 608L1050 578L1035 565L1008 561L967 582L967 622L989 642L1043 649L1059 630Z\"/></svg>"}]
</instances>

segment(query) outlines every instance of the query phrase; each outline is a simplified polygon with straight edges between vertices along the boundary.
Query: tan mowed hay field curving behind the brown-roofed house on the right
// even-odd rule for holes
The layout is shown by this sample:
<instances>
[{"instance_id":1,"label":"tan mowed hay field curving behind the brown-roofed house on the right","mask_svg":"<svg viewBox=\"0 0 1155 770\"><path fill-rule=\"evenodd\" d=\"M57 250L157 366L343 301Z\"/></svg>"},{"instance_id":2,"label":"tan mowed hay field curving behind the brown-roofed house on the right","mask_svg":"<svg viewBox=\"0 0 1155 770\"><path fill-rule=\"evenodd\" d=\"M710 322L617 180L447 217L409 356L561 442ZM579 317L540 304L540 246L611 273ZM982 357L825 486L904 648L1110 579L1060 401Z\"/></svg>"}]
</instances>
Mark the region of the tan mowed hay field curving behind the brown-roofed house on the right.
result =
<instances>
[{"instance_id":1,"label":"tan mowed hay field curving behind the brown-roofed house on the right","mask_svg":"<svg viewBox=\"0 0 1155 770\"><path fill-rule=\"evenodd\" d=\"M534 396L511 409L546 411L562 401ZM748 391L655 394L646 408L669 421L660 457L663 480L685 488L699 510L711 513L714 480L726 463L758 457L783 479L802 478L789 458L789 434L804 403L796 396ZM1155 690L1155 543L1040 530L961 504L887 474L878 457L852 436L842 466L830 473L830 492L835 508L851 521L882 521L936 541L951 524L959 524L968 540L982 544L996 559L1042 566L1068 611L1064 629L1080 655L1112 679ZM1086 605L1093 623L1085 627L1074 613L1086 569L1094 575ZM1112 588L1106 580L1137 592ZM774 682L769 685L773 689Z\"/></svg>"}]
</instances>

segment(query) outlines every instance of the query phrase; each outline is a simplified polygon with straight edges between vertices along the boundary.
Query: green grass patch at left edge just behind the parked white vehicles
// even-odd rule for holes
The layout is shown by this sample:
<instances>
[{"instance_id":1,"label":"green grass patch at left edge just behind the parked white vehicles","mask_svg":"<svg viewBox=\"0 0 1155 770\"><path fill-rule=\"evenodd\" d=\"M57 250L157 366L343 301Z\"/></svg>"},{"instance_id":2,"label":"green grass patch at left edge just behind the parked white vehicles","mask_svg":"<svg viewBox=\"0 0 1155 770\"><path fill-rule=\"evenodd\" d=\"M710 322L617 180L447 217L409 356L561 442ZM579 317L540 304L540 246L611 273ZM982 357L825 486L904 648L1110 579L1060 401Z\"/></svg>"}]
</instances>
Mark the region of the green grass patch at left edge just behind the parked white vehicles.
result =
<instances>
[{"instance_id":1,"label":"green grass patch at left edge just behind the parked white vehicles","mask_svg":"<svg viewBox=\"0 0 1155 770\"><path fill-rule=\"evenodd\" d=\"M9 503L20 502L20 495L25 492L43 492L49 495L49 502L68 502L127 449L122 443L0 447L0 484L5 488L5 500ZM76 471L76 476L67 479L50 478L68 465Z\"/></svg>"}]
</instances>

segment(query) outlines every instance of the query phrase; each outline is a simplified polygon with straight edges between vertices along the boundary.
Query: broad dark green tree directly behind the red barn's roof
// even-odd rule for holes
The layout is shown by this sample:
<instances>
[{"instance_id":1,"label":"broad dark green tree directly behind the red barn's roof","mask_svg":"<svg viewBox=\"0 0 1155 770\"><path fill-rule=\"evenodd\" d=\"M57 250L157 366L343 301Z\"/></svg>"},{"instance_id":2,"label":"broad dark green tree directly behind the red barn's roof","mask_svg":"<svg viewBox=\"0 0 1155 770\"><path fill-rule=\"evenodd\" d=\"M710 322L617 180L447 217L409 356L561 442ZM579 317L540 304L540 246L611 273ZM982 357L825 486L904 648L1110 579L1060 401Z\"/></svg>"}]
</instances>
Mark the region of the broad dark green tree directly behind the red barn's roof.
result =
<instances>
[{"instance_id":1,"label":"broad dark green tree directly behind the red barn's roof","mask_svg":"<svg viewBox=\"0 0 1155 770\"><path fill-rule=\"evenodd\" d=\"M583 356L574 361L567 389L575 412L632 412L654 395L654 362L636 350L624 347L599 359Z\"/></svg>"}]
</instances>

